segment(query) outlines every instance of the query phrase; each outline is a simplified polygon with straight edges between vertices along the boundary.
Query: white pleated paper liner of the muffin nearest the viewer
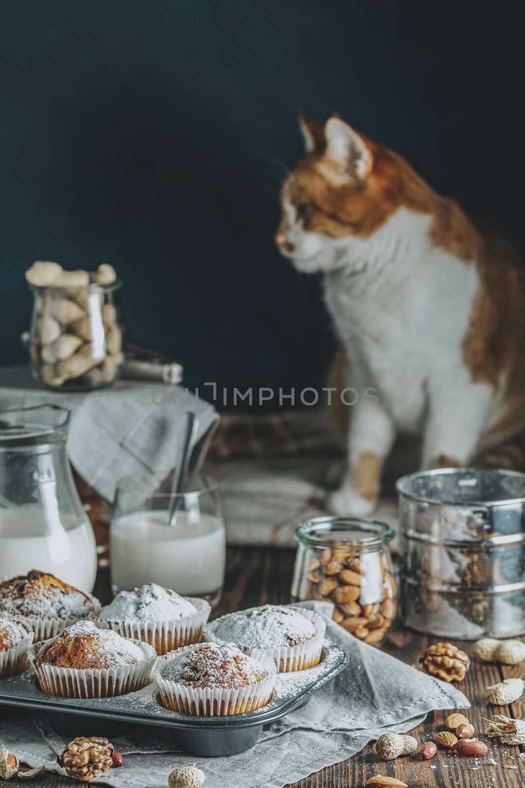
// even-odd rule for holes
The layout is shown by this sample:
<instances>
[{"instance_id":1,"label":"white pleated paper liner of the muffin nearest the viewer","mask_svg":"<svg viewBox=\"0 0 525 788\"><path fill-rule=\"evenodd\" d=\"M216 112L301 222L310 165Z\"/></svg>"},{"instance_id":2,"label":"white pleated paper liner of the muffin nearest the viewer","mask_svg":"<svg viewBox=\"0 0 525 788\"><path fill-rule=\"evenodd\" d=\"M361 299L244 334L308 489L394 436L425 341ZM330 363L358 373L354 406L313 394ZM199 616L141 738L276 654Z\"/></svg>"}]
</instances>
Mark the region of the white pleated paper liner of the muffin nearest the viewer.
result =
<instances>
[{"instance_id":1,"label":"white pleated paper liner of the muffin nearest the viewer","mask_svg":"<svg viewBox=\"0 0 525 788\"><path fill-rule=\"evenodd\" d=\"M172 712L191 716L229 716L255 712L272 699L275 676L275 662L264 652L257 649L241 649L261 663L268 671L268 676L261 682L250 684L239 689L212 689L210 687L191 687L162 678L161 671L169 660L177 654L196 649L201 643L184 646L171 654L159 657L153 667L153 677L157 680L161 703Z\"/></svg>"}]
</instances>

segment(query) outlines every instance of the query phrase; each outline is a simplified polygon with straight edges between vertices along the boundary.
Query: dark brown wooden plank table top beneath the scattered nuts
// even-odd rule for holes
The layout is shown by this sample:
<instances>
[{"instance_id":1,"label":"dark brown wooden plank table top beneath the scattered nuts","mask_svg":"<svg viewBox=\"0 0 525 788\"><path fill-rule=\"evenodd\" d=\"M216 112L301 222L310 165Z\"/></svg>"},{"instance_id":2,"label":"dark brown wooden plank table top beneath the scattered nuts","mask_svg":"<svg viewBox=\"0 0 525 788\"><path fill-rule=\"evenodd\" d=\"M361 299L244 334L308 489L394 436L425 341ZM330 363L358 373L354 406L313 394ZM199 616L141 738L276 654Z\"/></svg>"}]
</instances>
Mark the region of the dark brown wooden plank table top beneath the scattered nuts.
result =
<instances>
[{"instance_id":1,"label":"dark brown wooden plank table top beneath the scattered nuts","mask_svg":"<svg viewBox=\"0 0 525 788\"><path fill-rule=\"evenodd\" d=\"M253 605L289 602L293 567L293 551L228 549L224 594L214 617ZM107 573L98 577L94 593L103 602L109 600ZM416 665L427 645L435 640L400 629L390 634L383 649L399 660ZM457 642L457 645L467 652L471 650L469 644ZM458 685L472 704L471 710L465 712L468 719L479 738L489 746L489 752L483 758L460 758L453 751L438 747L438 753L432 760L422 761L412 756L384 761L375 755L373 746L368 746L353 758L295 783L293 788L364 788L373 775L396 777L409 788L523 788L525 761L519 757L519 748L491 743L484 734L486 724L483 721L483 718L494 714L525 719L525 697L512 706L489 708L484 698L486 686L516 676L525 678L525 663L507 667L473 660L466 678ZM432 740L438 730L446 729L444 720L449 713L429 714L425 722L410 733L421 743ZM244 785L250 788L249 775L246 777ZM72 788L79 782L48 773L30 784L36 788ZM9 786L22 785L27 786L28 782L16 778L9 781Z\"/></svg>"}]
</instances>

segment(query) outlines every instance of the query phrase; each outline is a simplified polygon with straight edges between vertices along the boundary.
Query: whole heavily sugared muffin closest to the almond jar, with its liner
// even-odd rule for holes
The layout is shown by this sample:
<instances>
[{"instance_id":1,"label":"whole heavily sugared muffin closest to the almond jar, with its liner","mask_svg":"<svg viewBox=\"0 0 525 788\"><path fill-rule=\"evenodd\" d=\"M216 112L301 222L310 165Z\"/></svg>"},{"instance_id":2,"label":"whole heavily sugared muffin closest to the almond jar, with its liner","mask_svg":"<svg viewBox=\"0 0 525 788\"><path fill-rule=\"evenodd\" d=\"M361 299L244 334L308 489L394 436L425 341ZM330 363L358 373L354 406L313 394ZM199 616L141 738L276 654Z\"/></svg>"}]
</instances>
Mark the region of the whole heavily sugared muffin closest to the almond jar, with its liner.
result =
<instances>
[{"instance_id":1,"label":"whole heavily sugared muffin closest to the almond jar, with its liner","mask_svg":"<svg viewBox=\"0 0 525 788\"><path fill-rule=\"evenodd\" d=\"M206 627L205 638L262 651L287 673L320 662L325 629L324 619L310 610L265 604L223 615Z\"/></svg>"}]
</instances>

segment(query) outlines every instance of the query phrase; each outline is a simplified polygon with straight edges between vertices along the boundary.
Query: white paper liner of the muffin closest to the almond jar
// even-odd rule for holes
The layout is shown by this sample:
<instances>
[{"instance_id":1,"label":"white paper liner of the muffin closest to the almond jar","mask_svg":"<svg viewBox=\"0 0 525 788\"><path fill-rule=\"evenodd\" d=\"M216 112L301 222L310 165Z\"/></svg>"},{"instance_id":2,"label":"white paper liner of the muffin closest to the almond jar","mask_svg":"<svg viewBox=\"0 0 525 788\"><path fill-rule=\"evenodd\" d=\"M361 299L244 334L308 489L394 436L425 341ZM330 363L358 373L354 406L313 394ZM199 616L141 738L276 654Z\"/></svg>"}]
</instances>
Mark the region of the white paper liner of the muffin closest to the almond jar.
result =
<instances>
[{"instance_id":1,"label":"white paper liner of the muffin closest to the almond jar","mask_svg":"<svg viewBox=\"0 0 525 788\"><path fill-rule=\"evenodd\" d=\"M256 610L257 608L249 608L250 610ZM292 646L278 646L275 649L261 649L259 646L255 648L267 656L271 656L272 660L275 660L275 665L277 666L278 673L291 673L292 671L305 671L309 667L314 667L318 665L321 660L321 655L323 652L323 642L324 642L324 633L326 631L327 625L324 621L324 618L317 613L314 613L312 610L306 610L305 608L293 608L294 611L297 611L301 615L304 615L305 619L308 619L312 622L312 624L316 627L316 634L314 637L311 638L309 641L305 641L304 643L298 643L298 645ZM215 630L216 627L219 626L224 619L227 618L227 615L221 616L220 619L216 619L215 621L209 623L204 628L204 637L207 641L213 641L215 643L227 643L231 641L224 641L220 637L216 637ZM240 644L237 644L240 645Z\"/></svg>"}]
</instances>

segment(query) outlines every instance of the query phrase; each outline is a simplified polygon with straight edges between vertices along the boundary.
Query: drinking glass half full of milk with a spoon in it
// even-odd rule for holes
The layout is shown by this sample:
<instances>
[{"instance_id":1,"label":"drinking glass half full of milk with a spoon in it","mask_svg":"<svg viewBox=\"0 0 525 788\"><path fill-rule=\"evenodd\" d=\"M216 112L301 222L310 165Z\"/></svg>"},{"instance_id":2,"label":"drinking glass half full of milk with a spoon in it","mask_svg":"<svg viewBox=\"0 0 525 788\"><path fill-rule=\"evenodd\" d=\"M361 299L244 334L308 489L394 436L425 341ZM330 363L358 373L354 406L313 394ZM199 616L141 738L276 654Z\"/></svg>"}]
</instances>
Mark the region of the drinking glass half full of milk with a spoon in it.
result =
<instances>
[{"instance_id":1,"label":"drinking glass half full of milk with a spoon in it","mask_svg":"<svg viewBox=\"0 0 525 788\"><path fill-rule=\"evenodd\" d=\"M109 530L113 593L157 583L184 597L220 599L226 535L219 485L209 476L187 480L184 492L144 494L142 480L128 478L116 490ZM168 523L174 497L176 524Z\"/></svg>"}]
</instances>

